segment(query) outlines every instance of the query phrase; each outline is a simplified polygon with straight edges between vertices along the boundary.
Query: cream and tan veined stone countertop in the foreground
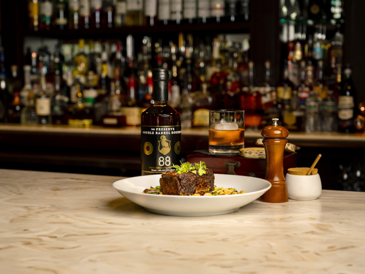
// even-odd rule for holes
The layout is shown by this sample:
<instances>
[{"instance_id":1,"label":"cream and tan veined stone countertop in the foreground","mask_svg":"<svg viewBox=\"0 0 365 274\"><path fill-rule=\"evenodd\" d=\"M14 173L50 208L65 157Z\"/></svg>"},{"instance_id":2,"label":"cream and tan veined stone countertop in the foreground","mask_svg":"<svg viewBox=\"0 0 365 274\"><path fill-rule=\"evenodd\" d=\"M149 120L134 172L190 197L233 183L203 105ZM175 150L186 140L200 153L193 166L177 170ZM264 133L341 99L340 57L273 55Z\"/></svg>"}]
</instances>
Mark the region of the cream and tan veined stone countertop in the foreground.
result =
<instances>
[{"instance_id":1,"label":"cream and tan veined stone countertop in the foreground","mask_svg":"<svg viewBox=\"0 0 365 274\"><path fill-rule=\"evenodd\" d=\"M365 193L173 217L119 179L0 170L0 273L365 273Z\"/></svg>"}]
</instances>

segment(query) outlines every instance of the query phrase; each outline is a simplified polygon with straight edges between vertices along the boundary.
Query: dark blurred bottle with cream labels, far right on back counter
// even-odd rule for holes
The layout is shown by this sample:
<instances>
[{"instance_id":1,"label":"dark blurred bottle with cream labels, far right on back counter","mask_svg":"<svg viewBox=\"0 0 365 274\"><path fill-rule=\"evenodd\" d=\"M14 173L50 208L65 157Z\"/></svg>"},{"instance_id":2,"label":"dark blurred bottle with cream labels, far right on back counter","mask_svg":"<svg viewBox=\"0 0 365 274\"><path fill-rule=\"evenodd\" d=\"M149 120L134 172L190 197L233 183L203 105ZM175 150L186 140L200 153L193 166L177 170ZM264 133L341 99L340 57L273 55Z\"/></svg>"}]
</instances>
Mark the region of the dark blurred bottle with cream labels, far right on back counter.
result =
<instances>
[{"instance_id":1,"label":"dark blurred bottle with cream labels, far right on back counter","mask_svg":"<svg viewBox=\"0 0 365 274\"><path fill-rule=\"evenodd\" d=\"M351 69L347 65L343 73L341 92L338 97L338 122L340 132L354 132L353 120L355 118L356 90L351 79Z\"/></svg>"}]
</instances>

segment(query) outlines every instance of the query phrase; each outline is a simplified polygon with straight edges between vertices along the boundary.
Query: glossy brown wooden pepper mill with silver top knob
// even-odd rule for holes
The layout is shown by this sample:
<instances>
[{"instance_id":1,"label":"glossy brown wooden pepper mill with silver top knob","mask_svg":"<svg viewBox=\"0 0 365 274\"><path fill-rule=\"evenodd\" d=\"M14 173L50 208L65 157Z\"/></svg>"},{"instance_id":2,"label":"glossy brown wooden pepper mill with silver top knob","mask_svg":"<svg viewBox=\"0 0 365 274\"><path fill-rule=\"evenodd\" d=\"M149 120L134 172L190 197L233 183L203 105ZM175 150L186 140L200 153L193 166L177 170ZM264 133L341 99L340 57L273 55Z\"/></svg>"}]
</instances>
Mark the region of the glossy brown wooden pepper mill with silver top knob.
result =
<instances>
[{"instance_id":1,"label":"glossy brown wooden pepper mill with silver top knob","mask_svg":"<svg viewBox=\"0 0 365 274\"><path fill-rule=\"evenodd\" d=\"M284 149L287 144L289 132L277 124L278 118L272 118L271 126L266 126L261 131L266 153L265 180L271 183L271 188L261 196L262 202L285 203L288 202L288 186L284 177Z\"/></svg>"}]
</instances>

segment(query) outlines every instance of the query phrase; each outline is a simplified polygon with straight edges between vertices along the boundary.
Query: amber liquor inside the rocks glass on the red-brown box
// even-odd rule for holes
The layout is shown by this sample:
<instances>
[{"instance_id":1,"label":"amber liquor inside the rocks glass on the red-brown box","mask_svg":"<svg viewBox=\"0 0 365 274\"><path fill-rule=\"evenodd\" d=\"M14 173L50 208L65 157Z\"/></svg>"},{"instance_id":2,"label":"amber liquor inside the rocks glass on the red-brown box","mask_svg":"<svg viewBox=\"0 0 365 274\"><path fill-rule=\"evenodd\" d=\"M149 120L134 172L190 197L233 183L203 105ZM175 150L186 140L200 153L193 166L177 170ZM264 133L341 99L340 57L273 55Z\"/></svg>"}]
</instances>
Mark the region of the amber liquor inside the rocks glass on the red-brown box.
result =
<instances>
[{"instance_id":1,"label":"amber liquor inside the rocks glass on the red-brown box","mask_svg":"<svg viewBox=\"0 0 365 274\"><path fill-rule=\"evenodd\" d=\"M245 144L245 129L209 130L209 152L238 154Z\"/></svg>"}]
</instances>

